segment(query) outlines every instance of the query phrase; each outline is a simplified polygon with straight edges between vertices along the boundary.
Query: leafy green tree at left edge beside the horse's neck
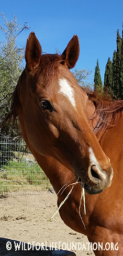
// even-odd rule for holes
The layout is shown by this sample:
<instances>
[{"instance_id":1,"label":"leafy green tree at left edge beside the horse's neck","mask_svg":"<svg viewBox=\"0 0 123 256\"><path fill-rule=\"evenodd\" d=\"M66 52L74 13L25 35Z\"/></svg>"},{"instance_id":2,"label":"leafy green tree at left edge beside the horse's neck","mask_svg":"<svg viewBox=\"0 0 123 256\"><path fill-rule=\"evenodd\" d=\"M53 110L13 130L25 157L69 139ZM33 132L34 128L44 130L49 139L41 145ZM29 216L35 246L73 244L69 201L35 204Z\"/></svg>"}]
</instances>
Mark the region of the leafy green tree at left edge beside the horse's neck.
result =
<instances>
[{"instance_id":1,"label":"leafy green tree at left edge beside the horse's neck","mask_svg":"<svg viewBox=\"0 0 123 256\"><path fill-rule=\"evenodd\" d=\"M0 119L2 120L9 112L8 99L24 69L24 47L17 47L16 39L21 31L29 27L25 23L21 29L17 24L16 16L9 23L4 14L1 15L4 19L4 27L0 25L0 29L5 35L5 41L0 43Z\"/></svg>"}]
</instances>

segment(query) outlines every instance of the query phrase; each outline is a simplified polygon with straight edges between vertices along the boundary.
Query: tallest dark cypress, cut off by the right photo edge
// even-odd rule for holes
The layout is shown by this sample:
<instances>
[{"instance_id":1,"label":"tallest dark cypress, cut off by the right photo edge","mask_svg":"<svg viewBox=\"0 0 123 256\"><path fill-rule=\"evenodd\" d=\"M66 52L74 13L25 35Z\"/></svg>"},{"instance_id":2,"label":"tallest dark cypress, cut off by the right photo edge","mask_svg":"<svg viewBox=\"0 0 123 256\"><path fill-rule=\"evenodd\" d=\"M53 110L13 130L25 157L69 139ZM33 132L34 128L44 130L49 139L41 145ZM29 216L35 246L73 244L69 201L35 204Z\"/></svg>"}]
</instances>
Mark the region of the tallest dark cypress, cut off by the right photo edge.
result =
<instances>
[{"instance_id":1,"label":"tallest dark cypress, cut off by the right photo edge","mask_svg":"<svg viewBox=\"0 0 123 256\"><path fill-rule=\"evenodd\" d=\"M119 74L119 97L123 99L123 23L122 23L122 39L121 39L121 62Z\"/></svg>"}]
</instances>

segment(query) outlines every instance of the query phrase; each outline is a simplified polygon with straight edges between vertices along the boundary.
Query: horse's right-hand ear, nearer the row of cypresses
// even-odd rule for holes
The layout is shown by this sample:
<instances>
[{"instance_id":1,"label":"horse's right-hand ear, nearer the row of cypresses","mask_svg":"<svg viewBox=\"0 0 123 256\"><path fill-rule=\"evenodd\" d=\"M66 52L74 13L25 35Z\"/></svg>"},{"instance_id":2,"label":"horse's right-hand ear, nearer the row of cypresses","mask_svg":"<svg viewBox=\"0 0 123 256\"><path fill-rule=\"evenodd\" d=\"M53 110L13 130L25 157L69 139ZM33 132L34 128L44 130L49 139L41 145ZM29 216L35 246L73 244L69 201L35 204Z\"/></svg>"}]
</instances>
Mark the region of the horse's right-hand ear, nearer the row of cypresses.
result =
<instances>
[{"instance_id":1,"label":"horse's right-hand ear, nearer the row of cypresses","mask_svg":"<svg viewBox=\"0 0 123 256\"><path fill-rule=\"evenodd\" d=\"M79 58L79 53L80 53L79 38L76 35L74 35L73 38L68 43L68 46L62 53L61 59L66 63L69 69L72 69Z\"/></svg>"}]
</instances>

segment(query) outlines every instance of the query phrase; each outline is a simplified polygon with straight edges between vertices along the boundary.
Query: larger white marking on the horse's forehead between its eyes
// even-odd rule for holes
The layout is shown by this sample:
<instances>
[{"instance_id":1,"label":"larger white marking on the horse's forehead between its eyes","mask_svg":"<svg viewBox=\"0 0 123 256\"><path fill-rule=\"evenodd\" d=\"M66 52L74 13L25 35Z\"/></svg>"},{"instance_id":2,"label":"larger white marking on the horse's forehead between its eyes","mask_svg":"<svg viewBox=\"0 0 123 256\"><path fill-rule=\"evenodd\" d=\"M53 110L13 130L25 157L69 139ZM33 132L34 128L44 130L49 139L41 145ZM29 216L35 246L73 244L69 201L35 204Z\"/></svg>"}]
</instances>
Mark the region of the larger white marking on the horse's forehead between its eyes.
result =
<instances>
[{"instance_id":1,"label":"larger white marking on the horse's forehead between its eyes","mask_svg":"<svg viewBox=\"0 0 123 256\"><path fill-rule=\"evenodd\" d=\"M70 83L66 79L62 78L59 80L59 85L60 85L59 93L62 93L65 97L67 97L71 102L71 104L73 105L73 107L76 108L75 99L74 99L74 90L71 87Z\"/></svg>"}]
</instances>

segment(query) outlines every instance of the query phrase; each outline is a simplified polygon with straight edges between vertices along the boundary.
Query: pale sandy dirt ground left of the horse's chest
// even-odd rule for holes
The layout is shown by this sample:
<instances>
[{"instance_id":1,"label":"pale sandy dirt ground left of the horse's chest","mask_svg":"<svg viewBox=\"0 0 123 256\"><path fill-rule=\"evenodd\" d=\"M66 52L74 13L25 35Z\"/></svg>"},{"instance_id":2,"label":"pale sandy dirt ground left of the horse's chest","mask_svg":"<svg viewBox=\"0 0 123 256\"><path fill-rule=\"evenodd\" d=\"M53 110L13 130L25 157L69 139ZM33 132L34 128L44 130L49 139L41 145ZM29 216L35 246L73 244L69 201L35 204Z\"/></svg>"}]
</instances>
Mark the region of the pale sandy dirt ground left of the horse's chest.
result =
<instances>
[{"instance_id":1,"label":"pale sandy dirt ground left of the horse's chest","mask_svg":"<svg viewBox=\"0 0 123 256\"><path fill-rule=\"evenodd\" d=\"M88 250L87 238L66 226L59 213L49 221L56 210L57 195L51 192L0 199L0 236L34 245L44 243L47 247L73 251L76 256L94 255L91 246ZM70 248L72 242L76 250Z\"/></svg>"}]
</instances>

